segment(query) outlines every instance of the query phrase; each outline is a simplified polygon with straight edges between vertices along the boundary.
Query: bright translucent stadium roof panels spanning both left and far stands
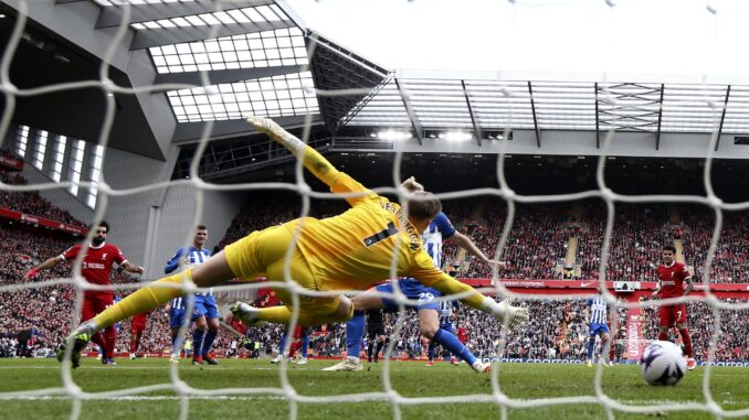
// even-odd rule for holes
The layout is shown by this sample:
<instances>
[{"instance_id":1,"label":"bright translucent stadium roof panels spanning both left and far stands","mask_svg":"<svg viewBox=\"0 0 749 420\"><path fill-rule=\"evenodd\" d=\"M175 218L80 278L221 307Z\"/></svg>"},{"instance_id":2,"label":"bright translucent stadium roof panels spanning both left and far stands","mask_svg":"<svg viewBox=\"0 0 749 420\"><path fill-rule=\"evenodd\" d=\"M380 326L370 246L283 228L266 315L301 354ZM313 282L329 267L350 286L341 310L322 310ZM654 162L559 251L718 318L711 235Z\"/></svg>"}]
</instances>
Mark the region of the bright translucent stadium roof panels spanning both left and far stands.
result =
<instances>
[{"instance_id":1,"label":"bright translucent stadium roof panels spanning both left and far stands","mask_svg":"<svg viewBox=\"0 0 749 420\"><path fill-rule=\"evenodd\" d=\"M168 91L178 122L321 111L331 130L411 127L416 136L430 128L467 129L474 136L504 129L749 132L747 86L395 77L307 31L279 1L89 1L103 7L97 28L119 25L127 12L122 4L129 6L136 31L130 49L148 49L159 82L192 79L201 71L209 80L235 75L221 84ZM312 39L318 42L309 60ZM265 77L249 77L262 73L243 69L266 69ZM316 96L314 88L372 91L334 98Z\"/></svg>"}]
</instances>

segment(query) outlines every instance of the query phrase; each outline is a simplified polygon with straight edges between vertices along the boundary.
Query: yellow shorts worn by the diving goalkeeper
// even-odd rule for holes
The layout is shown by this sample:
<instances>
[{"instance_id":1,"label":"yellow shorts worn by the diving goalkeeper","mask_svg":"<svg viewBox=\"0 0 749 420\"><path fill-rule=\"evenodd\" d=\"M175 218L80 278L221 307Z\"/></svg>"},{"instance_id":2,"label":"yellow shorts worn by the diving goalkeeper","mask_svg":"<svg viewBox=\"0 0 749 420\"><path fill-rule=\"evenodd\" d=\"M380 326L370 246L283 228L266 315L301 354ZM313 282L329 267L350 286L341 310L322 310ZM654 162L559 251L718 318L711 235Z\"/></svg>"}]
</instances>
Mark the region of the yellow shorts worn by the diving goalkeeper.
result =
<instances>
[{"instance_id":1,"label":"yellow shorts worn by the diving goalkeeper","mask_svg":"<svg viewBox=\"0 0 749 420\"><path fill-rule=\"evenodd\" d=\"M226 246L224 255L234 276L244 281L265 276L271 281L284 281L284 262L294 230L303 219L297 218L279 226L253 231ZM291 255L292 280L306 290L318 291L318 282L304 256L294 246ZM291 309L292 293L285 288L273 288L278 298ZM340 297L310 297L299 294L300 310L313 315L333 313L340 304Z\"/></svg>"}]
</instances>

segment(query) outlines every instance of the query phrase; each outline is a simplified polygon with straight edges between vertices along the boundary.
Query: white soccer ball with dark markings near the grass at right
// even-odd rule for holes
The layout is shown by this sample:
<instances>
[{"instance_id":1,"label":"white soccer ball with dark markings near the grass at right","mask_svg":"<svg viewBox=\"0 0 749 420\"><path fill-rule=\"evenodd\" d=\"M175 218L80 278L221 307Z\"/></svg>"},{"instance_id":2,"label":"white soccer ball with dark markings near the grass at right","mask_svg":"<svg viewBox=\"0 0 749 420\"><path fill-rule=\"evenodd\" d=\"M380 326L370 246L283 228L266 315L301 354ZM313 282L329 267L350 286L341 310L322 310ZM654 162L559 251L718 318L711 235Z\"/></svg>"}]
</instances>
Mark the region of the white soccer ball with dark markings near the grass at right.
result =
<instances>
[{"instance_id":1,"label":"white soccer ball with dark markings near the grass at right","mask_svg":"<svg viewBox=\"0 0 749 420\"><path fill-rule=\"evenodd\" d=\"M650 385L676 385L686 371L686 360L676 344L653 342L640 359L640 370Z\"/></svg>"}]
</instances>

